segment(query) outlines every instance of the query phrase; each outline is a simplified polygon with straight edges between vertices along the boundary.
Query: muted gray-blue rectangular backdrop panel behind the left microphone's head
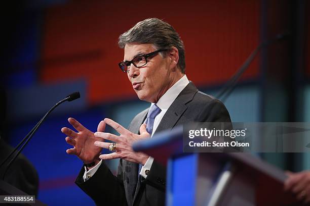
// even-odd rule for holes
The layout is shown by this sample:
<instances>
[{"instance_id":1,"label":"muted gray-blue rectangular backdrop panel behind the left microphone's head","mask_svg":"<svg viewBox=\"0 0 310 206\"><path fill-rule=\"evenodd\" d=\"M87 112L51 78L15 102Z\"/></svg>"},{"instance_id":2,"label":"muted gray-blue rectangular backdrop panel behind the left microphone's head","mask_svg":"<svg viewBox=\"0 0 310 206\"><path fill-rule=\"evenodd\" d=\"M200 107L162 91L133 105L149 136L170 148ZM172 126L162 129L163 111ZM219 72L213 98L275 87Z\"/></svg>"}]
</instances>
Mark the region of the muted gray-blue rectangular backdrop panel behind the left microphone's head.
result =
<instances>
[{"instance_id":1,"label":"muted gray-blue rectangular backdrop panel behind the left microphone's head","mask_svg":"<svg viewBox=\"0 0 310 206\"><path fill-rule=\"evenodd\" d=\"M81 80L11 89L7 93L8 120L11 122L20 122L33 118L40 120L52 106L74 91L80 91L81 98L71 102L64 102L51 113L51 116L85 109L87 107L86 82Z\"/></svg>"}]
</instances>

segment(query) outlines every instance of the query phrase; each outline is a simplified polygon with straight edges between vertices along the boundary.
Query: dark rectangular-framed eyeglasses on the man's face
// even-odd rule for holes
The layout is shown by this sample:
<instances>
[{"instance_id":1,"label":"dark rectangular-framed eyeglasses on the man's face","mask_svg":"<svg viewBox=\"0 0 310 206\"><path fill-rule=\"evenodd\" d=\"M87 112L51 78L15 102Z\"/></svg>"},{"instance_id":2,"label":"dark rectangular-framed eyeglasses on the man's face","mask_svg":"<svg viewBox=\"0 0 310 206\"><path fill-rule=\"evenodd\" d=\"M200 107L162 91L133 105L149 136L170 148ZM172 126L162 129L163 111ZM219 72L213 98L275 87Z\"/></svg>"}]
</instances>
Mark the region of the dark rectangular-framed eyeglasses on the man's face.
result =
<instances>
[{"instance_id":1,"label":"dark rectangular-framed eyeglasses on the man's face","mask_svg":"<svg viewBox=\"0 0 310 206\"><path fill-rule=\"evenodd\" d=\"M151 53L148 53L146 55L140 55L138 57L135 57L133 58L131 61L125 61L125 62L121 62L119 63L119 66L121 68L121 70L123 72L129 72L129 69L128 67L133 64L136 68L141 68L143 67L144 65L147 64L147 59L150 58L150 57L153 57L155 56L156 54L160 53L160 52L164 52L166 51L167 49L159 49L155 52L151 52Z\"/></svg>"}]
</instances>

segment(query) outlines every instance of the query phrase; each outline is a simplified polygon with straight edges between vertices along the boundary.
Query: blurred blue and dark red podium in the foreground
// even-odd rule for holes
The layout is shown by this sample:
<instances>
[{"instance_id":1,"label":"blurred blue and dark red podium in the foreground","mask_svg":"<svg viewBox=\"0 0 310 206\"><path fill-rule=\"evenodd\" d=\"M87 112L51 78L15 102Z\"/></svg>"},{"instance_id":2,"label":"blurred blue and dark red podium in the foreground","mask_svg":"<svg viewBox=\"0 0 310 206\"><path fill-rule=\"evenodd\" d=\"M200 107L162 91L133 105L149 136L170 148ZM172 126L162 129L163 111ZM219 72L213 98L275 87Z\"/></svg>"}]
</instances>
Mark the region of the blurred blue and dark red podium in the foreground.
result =
<instances>
[{"instance_id":1,"label":"blurred blue and dark red podium in the foreground","mask_svg":"<svg viewBox=\"0 0 310 206\"><path fill-rule=\"evenodd\" d=\"M299 205L283 191L284 171L250 153L185 153L183 128L135 142L167 167L166 205Z\"/></svg>"}]
</instances>

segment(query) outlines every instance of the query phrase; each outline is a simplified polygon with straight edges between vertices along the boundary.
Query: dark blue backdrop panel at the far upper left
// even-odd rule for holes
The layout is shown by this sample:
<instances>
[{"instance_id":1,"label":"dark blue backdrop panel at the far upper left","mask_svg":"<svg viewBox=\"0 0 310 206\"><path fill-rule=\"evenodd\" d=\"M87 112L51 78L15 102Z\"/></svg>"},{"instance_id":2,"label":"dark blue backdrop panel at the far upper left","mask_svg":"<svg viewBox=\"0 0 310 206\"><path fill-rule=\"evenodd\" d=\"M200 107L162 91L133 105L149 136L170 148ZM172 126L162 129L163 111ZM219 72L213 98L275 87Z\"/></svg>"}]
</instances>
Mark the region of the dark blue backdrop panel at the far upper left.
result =
<instances>
[{"instance_id":1,"label":"dark blue backdrop panel at the far upper left","mask_svg":"<svg viewBox=\"0 0 310 206\"><path fill-rule=\"evenodd\" d=\"M16 17L8 39L9 48L4 53L3 68L6 75L0 77L6 88L34 84L40 52L41 13L31 11Z\"/></svg>"}]
</instances>

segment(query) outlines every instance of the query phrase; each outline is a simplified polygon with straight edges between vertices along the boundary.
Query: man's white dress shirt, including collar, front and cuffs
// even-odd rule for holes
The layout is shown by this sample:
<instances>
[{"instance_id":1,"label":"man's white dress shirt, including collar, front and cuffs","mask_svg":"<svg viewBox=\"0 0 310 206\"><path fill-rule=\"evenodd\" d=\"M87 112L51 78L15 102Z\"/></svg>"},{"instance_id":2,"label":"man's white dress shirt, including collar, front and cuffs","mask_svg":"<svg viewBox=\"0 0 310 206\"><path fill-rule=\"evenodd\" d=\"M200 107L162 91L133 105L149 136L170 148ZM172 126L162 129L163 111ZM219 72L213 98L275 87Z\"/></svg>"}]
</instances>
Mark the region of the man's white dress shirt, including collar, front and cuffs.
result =
<instances>
[{"instance_id":1,"label":"man's white dress shirt, including collar, front and cuffs","mask_svg":"<svg viewBox=\"0 0 310 206\"><path fill-rule=\"evenodd\" d=\"M181 93L181 91L187 86L187 84L189 83L186 75L184 75L181 79L179 79L179 81L177 81L172 87L170 87L166 93L158 100L158 102L156 103L156 105L162 110L160 112L160 114L158 114L155 119L154 119L154 125L153 125L153 131L151 134L151 137L153 136L154 132L156 131L158 125L160 124L160 122L162 121L165 113L167 112L167 110L169 109L169 107L172 105L172 102L176 99L176 97ZM154 103L152 103L154 104ZM150 170L152 163L153 163L153 158L149 157L145 163L144 166L142 166L141 171L140 171L140 175L144 178L147 177L147 175L145 174L146 170ZM102 160L92 169L90 169L89 171L87 171L86 167L85 167L85 173L83 176L84 181L88 180L89 178L91 178L95 172L98 170L99 166L101 165Z\"/></svg>"}]
</instances>

